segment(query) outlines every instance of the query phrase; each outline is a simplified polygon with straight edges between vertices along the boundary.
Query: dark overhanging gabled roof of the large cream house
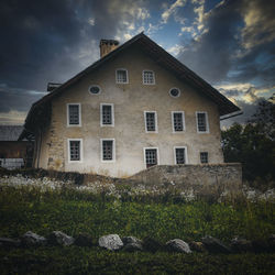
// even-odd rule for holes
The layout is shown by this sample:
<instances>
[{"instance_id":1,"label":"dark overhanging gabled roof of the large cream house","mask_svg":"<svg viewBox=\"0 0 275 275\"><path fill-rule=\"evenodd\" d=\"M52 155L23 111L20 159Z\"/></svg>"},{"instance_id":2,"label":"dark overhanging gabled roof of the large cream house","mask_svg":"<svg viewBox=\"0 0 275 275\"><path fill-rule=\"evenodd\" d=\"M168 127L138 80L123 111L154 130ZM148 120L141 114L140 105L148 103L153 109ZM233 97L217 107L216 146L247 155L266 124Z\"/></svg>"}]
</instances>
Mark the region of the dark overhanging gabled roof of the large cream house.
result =
<instances>
[{"instance_id":1,"label":"dark overhanging gabled roof of the large cream house","mask_svg":"<svg viewBox=\"0 0 275 275\"><path fill-rule=\"evenodd\" d=\"M103 65L107 61L112 59L119 53L124 51L125 48L138 45L145 54L150 55L157 64L163 66L164 68L170 70L176 77L188 82L196 89L198 89L202 95L208 97L210 100L215 101L219 108L220 116L229 114L232 112L240 111L240 108L233 105L229 99L227 99L223 95L221 95L217 89L215 89L211 85L196 75L193 70L187 68L183 63L177 61L174 56L168 54L165 50L158 46L154 41L148 38L143 32L134 36L133 38L125 42L123 45L119 46L105 57L100 58L91 66L87 67L68 81L64 82L56 89L54 89L51 94L44 96L42 99L32 105L31 110L28 113L25 119L25 129L26 131L32 132L34 124L40 120L40 118L44 117L43 107L48 105L53 98L61 95L66 88L77 82L84 76L90 74L99 66ZM23 134L23 133L22 133ZM20 138L22 138L22 134Z\"/></svg>"}]
</instances>

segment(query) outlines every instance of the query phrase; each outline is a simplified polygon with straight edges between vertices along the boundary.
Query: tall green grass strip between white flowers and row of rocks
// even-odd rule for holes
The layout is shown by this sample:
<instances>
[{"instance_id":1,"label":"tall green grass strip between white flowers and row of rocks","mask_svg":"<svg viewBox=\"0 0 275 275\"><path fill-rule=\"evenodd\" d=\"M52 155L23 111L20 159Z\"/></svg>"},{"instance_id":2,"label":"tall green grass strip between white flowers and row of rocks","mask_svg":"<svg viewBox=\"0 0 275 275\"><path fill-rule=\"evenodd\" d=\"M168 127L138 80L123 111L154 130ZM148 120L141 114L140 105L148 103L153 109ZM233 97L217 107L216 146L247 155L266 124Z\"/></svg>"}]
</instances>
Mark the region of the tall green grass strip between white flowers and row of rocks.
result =
<instances>
[{"instance_id":1,"label":"tall green grass strip between white flowers and row of rocks","mask_svg":"<svg viewBox=\"0 0 275 275\"><path fill-rule=\"evenodd\" d=\"M2 188L0 237L20 237L29 230L47 235L62 230L70 235L102 234L153 237L161 241L179 238L200 240L210 234L229 241L234 235L261 239L274 233L274 204L234 204L197 200L187 202L169 194L122 196L120 199L63 188Z\"/></svg>"}]
</instances>

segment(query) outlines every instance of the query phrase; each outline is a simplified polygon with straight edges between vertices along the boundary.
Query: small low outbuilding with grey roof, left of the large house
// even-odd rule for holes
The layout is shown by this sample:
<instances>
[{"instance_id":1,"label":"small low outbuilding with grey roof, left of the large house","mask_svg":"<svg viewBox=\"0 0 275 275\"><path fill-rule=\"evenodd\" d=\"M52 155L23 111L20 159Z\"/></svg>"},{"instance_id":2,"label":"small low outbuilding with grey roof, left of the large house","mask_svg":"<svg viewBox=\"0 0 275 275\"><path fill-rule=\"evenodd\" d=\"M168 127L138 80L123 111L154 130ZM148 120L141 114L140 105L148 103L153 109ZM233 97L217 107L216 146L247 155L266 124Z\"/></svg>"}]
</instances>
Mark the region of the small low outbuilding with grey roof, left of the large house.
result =
<instances>
[{"instance_id":1,"label":"small low outbuilding with grey roof, left of the large house","mask_svg":"<svg viewBox=\"0 0 275 275\"><path fill-rule=\"evenodd\" d=\"M32 166L33 143L18 141L21 125L0 125L0 167L15 169Z\"/></svg>"}]
</instances>

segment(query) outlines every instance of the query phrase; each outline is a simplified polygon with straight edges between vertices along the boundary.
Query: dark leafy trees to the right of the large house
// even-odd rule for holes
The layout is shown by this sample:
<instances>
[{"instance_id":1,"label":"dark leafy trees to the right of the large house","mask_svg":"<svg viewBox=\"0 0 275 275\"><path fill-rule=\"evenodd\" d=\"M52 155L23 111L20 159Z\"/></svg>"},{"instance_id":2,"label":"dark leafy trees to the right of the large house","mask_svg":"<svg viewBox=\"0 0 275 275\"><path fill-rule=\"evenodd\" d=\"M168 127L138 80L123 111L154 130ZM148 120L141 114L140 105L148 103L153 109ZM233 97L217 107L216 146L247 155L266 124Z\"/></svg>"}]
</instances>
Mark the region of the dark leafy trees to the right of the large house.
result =
<instances>
[{"instance_id":1,"label":"dark leafy trees to the right of the large house","mask_svg":"<svg viewBox=\"0 0 275 275\"><path fill-rule=\"evenodd\" d=\"M242 163L244 179L275 180L274 110L273 102L261 101L248 124L234 123L221 133L224 161Z\"/></svg>"}]
</instances>

